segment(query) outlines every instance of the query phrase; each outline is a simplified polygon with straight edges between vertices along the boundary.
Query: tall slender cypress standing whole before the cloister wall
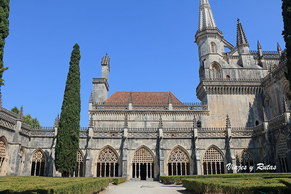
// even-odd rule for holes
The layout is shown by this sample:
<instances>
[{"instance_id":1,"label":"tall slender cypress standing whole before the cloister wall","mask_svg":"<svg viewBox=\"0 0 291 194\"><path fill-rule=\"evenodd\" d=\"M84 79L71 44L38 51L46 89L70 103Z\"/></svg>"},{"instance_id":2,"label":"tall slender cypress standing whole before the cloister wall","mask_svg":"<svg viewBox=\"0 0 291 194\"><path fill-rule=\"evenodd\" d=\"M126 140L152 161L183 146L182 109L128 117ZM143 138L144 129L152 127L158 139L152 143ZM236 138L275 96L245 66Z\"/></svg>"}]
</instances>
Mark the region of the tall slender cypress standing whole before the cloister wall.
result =
<instances>
[{"instance_id":1,"label":"tall slender cypress standing whole before the cloister wall","mask_svg":"<svg viewBox=\"0 0 291 194\"><path fill-rule=\"evenodd\" d=\"M76 168L80 132L80 47L73 47L61 116L58 123L54 163L56 170L69 177Z\"/></svg>"}]
</instances>

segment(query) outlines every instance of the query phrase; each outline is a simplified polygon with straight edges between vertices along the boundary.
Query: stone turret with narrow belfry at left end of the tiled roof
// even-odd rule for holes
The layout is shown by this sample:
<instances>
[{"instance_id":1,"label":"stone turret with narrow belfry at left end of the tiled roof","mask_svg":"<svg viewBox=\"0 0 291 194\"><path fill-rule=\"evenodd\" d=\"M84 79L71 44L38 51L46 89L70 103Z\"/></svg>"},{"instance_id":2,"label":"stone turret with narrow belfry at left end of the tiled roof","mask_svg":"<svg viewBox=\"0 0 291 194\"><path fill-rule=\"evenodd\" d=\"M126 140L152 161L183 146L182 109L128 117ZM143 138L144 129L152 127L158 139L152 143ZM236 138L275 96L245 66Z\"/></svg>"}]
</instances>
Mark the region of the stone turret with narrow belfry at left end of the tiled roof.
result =
<instances>
[{"instance_id":1,"label":"stone turret with narrow belfry at left end of the tiled roof","mask_svg":"<svg viewBox=\"0 0 291 194\"><path fill-rule=\"evenodd\" d=\"M107 93L109 91L108 74L109 68L109 56L103 56L101 61L101 78L93 78L93 102L104 102L107 99Z\"/></svg>"}]
</instances>

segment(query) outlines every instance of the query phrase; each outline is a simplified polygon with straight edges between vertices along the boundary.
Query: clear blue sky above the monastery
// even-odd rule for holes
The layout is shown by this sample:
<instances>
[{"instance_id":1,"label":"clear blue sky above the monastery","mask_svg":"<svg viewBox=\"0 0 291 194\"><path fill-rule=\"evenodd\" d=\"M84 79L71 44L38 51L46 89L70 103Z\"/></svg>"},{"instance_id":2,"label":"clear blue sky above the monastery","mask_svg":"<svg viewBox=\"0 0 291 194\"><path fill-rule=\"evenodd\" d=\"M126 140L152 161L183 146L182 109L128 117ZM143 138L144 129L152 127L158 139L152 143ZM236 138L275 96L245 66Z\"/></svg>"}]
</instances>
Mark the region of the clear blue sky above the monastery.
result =
<instances>
[{"instance_id":1,"label":"clear blue sky above the monastery","mask_svg":"<svg viewBox=\"0 0 291 194\"><path fill-rule=\"evenodd\" d=\"M281 1L209 0L217 27L236 44L237 17L250 50L285 47ZM86 2L86 3L84 3ZM199 0L10 1L4 48L3 106L52 126L61 111L70 55L80 45L81 127L88 126L92 78L110 56L109 93L168 92L182 102L196 97Z\"/></svg>"}]
</instances>

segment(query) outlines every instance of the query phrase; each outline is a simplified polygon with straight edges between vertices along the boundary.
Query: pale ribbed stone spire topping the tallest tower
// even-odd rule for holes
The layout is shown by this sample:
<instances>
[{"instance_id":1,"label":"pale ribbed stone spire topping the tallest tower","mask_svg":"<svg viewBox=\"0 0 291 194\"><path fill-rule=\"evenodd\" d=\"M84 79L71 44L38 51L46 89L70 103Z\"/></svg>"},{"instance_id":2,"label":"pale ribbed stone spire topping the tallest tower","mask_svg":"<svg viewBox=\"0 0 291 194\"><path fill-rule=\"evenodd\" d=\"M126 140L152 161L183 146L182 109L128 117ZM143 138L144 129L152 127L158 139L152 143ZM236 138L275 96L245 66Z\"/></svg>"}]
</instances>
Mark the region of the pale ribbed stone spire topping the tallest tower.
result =
<instances>
[{"instance_id":1,"label":"pale ribbed stone spire topping the tallest tower","mask_svg":"<svg viewBox=\"0 0 291 194\"><path fill-rule=\"evenodd\" d=\"M216 24L208 0L200 0L198 30L215 28Z\"/></svg>"}]
</instances>

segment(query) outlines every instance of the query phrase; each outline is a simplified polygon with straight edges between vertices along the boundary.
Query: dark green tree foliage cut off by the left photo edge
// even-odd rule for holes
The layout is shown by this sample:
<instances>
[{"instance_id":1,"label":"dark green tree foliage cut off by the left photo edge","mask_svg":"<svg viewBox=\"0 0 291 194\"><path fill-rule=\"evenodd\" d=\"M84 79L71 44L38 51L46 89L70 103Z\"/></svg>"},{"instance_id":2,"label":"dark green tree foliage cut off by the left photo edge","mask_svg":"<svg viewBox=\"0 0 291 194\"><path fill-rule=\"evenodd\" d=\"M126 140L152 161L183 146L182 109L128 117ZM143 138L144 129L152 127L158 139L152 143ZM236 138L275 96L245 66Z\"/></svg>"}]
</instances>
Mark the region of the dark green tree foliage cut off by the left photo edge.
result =
<instances>
[{"instance_id":1,"label":"dark green tree foliage cut off by the left photo edge","mask_svg":"<svg viewBox=\"0 0 291 194\"><path fill-rule=\"evenodd\" d=\"M0 0L0 87L4 85L4 80L2 79L3 72L8 69L8 67L4 67L3 55L5 38L9 35L9 1Z\"/></svg>"}]
</instances>

